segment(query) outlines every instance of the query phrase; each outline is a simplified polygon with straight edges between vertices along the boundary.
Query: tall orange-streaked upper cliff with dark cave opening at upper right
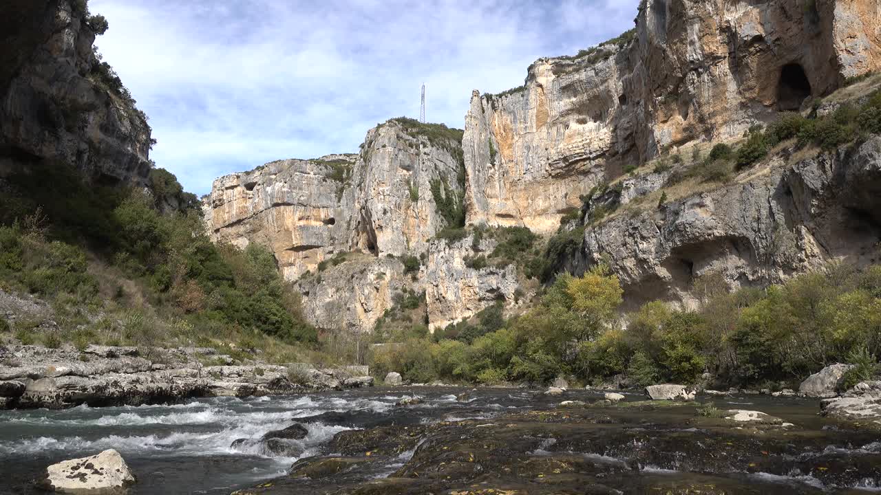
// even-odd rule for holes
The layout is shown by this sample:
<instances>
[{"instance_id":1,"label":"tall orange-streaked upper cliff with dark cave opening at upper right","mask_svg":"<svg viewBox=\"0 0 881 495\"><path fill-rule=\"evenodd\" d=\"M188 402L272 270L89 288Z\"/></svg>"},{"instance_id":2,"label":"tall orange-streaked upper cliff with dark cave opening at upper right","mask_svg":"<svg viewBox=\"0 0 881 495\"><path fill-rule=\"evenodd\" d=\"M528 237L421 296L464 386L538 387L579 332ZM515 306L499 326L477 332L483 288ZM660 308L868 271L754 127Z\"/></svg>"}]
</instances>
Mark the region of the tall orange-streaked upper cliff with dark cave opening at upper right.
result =
<instances>
[{"instance_id":1,"label":"tall orange-streaked upper cliff with dark cave opening at upper right","mask_svg":"<svg viewBox=\"0 0 881 495\"><path fill-rule=\"evenodd\" d=\"M475 92L468 222L551 232L578 196L669 146L752 123L881 65L875 0L648 0L633 33L543 58L522 89Z\"/></svg>"}]
</instances>

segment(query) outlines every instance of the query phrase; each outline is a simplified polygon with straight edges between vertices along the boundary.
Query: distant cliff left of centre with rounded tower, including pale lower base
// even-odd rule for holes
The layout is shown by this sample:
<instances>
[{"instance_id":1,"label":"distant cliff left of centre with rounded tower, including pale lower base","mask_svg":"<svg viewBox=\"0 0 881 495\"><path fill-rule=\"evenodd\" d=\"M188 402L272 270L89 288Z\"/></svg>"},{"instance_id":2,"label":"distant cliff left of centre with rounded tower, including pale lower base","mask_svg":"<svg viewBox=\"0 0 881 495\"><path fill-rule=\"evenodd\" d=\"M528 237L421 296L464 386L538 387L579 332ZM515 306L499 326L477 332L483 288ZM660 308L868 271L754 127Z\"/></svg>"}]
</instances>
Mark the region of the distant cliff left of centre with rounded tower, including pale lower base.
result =
<instances>
[{"instance_id":1,"label":"distant cliff left of centre with rounded tower, including pale lower base","mask_svg":"<svg viewBox=\"0 0 881 495\"><path fill-rule=\"evenodd\" d=\"M444 209L461 211L460 139L455 129L393 119L370 129L357 155L287 159L220 177L204 199L205 222L215 240L270 247L285 279L297 281L310 321L368 332L394 294L422 291L389 256L426 253L449 224Z\"/></svg>"}]
</instances>

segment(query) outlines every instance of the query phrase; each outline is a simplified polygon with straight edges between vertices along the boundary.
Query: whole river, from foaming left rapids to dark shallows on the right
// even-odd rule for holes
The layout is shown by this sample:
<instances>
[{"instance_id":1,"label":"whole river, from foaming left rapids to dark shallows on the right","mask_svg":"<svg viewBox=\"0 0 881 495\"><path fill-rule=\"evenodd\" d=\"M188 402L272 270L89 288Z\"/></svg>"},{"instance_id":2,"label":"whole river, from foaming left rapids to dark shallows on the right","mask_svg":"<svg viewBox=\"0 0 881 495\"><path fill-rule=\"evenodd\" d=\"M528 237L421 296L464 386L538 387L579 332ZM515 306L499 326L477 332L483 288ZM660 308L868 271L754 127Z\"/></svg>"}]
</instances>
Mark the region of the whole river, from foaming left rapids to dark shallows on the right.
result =
<instances>
[{"instance_id":1,"label":"whole river, from foaming left rapids to dark shallows on the right","mask_svg":"<svg viewBox=\"0 0 881 495\"><path fill-rule=\"evenodd\" d=\"M556 404L562 399L537 395L535 390L480 388L470 391L470 397L465 402L459 402L456 395L463 390L467 389L366 388L300 396L220 397L158 406L80 406L70 410L0 411L0 471L3 474L0 493L37 493L33 480L49 464L115 448L138 477L137 484L128 491L132 495L227 494L253 487L263 480L282 477L298 459L338 454L336 451L328 452L328 445L339 432L389 425L412 428L416 432L417 428L432 425L455 428L459 425L457 422L473 428L499 426L495 423L500 422L507 426L522 424L522 434L518 433L516 438L535 438L535 445L529 443L531 440L524 440L524 447L520 449L523 452L520 452L519 446L514 445L516 442L508 442L511 445L506 447L511 450L512 466L515 458L520 459L518 455L528 454L529 462L535 462L535 459L544 462L558 454L586 456L599 466L596 469L602 472L598 471L595 477L603 479L603 486L610 486L610 492L648 492L649 485L655 484L655 478L660 479L657 483L662 484L667 483L665 480L677 480L725 486L728 491L720 492L727 493L864 493L877 491L881 484L881 442L878 441L881 439L867 432L840 431L838 425L818 417L816 400L759 395L715 399L714 403L719 408L761 410L796 425L796 432L754 432L749 435L738 431L738 428L731 429L730 441L720 445L731 449L754 448L759 459L744 460L741 467L737 459L699 462L689 458L694 455L714 456L712 447L707 447L706 452L696 452L694 449L700 442L707 443L717 438L724 440L722 437L729 434L728 430L714 429L714 425L695 427L693 421L700 423L700 417L692 419L693 407L669 410L588 408L589 412L584 414L589 416L581 417L577 412L566 412L560 416ZM396 406L403 397L414 394L424 397L425 402L407 407ZM602 395L590 391L570 391L564 398L591 402L600 397ZM626 401L641 400L641 395L627 394ZM534 417L543 422L537 423L541 426L540 431L536 430L535 425L522 423L524 418L529 418L529 413L535 413ZM558 417L559 421L555 419ZM305 425L307 435L302 440L288 440L290 450L285 454L271 454L262 444L253 441L231 447L234 440L259 439L263 434L283 429L293 422ZM590 431L582 428L588 424L594 426ZM621 429L610 429L607 425L617 425L616 428ZM472 429L466 432L463 429L463 438L477 438L480 431ZM428 431L425 432L427 435ZM571 435L565 432L571 432ZM581 438L580 435L588 440L573 443L576 441L574 439ZM643 435L640 438L645 440L640 442L655 439L663 442L654 447L637 446L638 440L631 438L633 435ZM673 438L671 435L676 435L676 439L670 440ZM618 437L620 441L616 443ZM693 441L689 440L692 437ZM496 435L496 438L500 437ZM755 445L744 447L750 442ZM407 468L403 466L411 461L416 446L413 447L402 447L399 453L377 456L377 460L369 465L346 471L345 480L341 477L339 485L333 488L337 490L346 484L355 486L360 481L381 480L396 472L396 476L404 476L402 473L407 472ZM335 445L333 448L338 450L342 447ZM420 448L425 450L433 447ZM737 451L734 455L751 454ZM769 459L767 463L762 462L765 458ZM471 462L474 462L473 459ZM504 467L505 459L488 459L487 472L496 470L491 469L492 462L501 462L498 464L502 466L500 470L507 469ZM751 469L757 462L758 469ZM849 468L848 463L852 464ZM842 467L838 468L839 465ZM582 475L590 471L579 469ZM767 469L767 472L761 469ZM841 472L837 473L836 469ZM551 471L557 472L559 469ZM830 474L827 476L826 473ZM407 473L406 476L412 477L411 474ZM639 476L634 477L634 474ZM541 476L535 476L536 479L545 479L544 472ZM707 476L711 478L701 478ZM617 477L620 479L615 481ZM279 493L289 492L284 490L278 488ZM315 490L320 492L317 488ZM418 492L418 489L407 492ZM524 492L544 491L532 491L527 487Z\"/></svg>"}]
</instances>

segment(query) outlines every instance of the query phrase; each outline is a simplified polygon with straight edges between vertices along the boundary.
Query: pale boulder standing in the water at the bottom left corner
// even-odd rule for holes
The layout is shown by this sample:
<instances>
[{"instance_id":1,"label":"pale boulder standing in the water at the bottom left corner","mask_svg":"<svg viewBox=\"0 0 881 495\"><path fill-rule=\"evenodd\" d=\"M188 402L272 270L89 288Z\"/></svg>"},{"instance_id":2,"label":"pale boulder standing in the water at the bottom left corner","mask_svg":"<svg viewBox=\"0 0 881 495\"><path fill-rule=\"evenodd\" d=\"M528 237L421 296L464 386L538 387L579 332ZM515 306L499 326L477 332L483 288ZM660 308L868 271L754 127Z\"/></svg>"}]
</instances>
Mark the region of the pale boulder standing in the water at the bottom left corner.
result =
<instances>
[{"instance_id":1,"label":"pale boulder standing in the water at the bottom left corner","mask_svg":"<svg viewBox=\"0 0 881 495\"><path fill-rule=\"evenodd\" d=\"M52 464L41 485L62 493L104 493L135 483L135 475L114 449Z\"/></svg>"}]
</instances>

